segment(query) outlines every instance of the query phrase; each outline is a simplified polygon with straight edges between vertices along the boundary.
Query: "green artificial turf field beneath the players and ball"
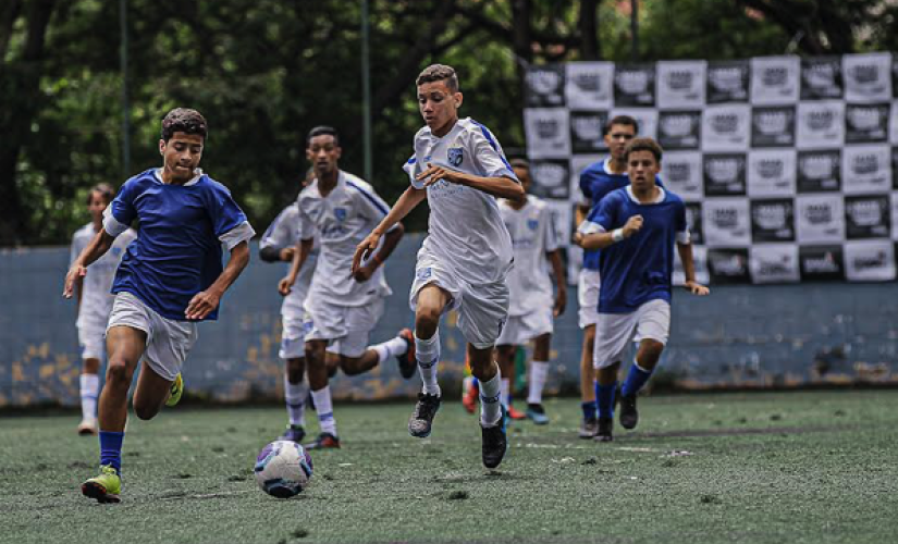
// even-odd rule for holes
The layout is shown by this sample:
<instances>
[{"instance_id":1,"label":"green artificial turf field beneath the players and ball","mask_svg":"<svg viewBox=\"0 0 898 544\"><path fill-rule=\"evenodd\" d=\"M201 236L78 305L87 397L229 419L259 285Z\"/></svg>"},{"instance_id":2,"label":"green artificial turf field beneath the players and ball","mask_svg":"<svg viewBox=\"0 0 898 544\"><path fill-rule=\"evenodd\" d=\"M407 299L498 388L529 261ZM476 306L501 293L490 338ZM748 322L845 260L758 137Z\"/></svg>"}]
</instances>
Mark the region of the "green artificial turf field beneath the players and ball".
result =
<instances>
[{"instance_id":1,"label":"green artificial turf field beneath the players and ball","mask_svg":"<svg viewBox=\"0 0 898 544\"><path fill-rule=\"evenodd\" d=\"M551 399L552 423L515 422L494 472L459 403L428 440L408 435L411 408L339 403L343 449L313 452L287 500L251 474L283 409L132 417L119 505L81 495L98 446L74 413L3 417L0 542L898 541L895 391L643 397L610 444L577 438L578 401Z\"/></svg>"}]
</instances>

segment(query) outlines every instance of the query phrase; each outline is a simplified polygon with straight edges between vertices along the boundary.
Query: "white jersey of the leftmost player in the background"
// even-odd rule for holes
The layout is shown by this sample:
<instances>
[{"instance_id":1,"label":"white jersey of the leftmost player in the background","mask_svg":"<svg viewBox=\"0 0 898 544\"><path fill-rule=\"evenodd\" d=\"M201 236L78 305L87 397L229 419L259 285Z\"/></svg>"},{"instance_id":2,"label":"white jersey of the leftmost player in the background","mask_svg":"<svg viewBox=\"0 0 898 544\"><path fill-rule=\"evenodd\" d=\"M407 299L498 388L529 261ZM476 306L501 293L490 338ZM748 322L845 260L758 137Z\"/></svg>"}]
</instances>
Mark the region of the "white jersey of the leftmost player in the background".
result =
<instances>
[{"instance_id":1,"label":"white jersey of the leftmost player in the background","mask_svg":"<svg viewBox=\"0 0 898 544\"><path fill-rule=\"evenodd\" d=\"M81 255L84 248L97 235L94 223L87 223L75 232L72 236L72 251L69 260L70 265ZM109 320L109 312L112 311L112 302L115 296L112 295L112 281L115 279L115 271L125 255L125 248L134 242L137 233L128 228L115 237L112 247L102 257L87 267L87 275L84 276L82 285L81 306L78 308L78 326L102 326Z\"/></svg>"}]
</instances>

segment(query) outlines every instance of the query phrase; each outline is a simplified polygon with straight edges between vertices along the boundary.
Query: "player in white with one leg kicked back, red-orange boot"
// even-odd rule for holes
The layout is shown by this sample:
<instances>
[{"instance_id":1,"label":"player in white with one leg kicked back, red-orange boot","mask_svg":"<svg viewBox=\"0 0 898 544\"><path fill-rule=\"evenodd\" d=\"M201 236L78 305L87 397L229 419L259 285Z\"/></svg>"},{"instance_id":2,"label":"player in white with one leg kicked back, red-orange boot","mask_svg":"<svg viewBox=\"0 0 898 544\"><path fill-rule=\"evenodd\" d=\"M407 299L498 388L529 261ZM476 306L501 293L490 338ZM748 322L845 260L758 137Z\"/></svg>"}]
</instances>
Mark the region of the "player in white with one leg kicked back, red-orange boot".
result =
<instances>
[{"instance_id":1,"label":"player in white with one leg kicked back, red-orange boot","mask_svg":"<svg viewBox=\"0 0 898 544\"><path fill-rule=\"evenodd\" d=\"M292 293L317 235L321 251L305 305L306 370L321 428L318 438L306 446L311 449L340 447L325 350L339 356L347 375L368 372L390 357L398 359L403 376L415 374L415 344L408 329L382 344L368 345L391 294L381 267L405 231L402 224L393 225L379 250L362 265L353 267L356 246L390 208L371 185L340 170L341 153L336 131L318 126L309 132L306 157L315 180L299 193L299 244L290 273L278 285L281 295Z\"/></svg>"}]
</instances>

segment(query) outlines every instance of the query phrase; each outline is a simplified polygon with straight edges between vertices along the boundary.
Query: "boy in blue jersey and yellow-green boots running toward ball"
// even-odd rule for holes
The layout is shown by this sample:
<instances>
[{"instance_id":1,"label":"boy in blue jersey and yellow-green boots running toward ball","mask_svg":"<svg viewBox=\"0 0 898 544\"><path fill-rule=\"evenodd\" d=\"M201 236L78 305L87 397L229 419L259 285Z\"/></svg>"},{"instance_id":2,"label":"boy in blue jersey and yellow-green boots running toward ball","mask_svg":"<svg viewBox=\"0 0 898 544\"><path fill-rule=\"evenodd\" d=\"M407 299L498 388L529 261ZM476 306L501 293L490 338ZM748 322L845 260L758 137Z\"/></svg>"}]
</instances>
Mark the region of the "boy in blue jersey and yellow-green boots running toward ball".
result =
<instances>
[{"instance_id":1,"label":"boy in blue jersey and yellow-green boots running toward ball","mask_svg":"<svg viewBox=\"0 0 898 544\"><path fill-rule=\"evenodd\" d=\"M65 276L72 297L78 277L112 247L135 220L140 232L115 273L115 300L107 325L109 362L100 393L100 474L82 493L118 503L127 392L137 364L134 412L152 419L163 404L181 398L181 367L197 338L196 323L214 320L224 292L249 262L255 232L220 183L197 166L207 135L199 112L175 109L162 121L161 169L138 174L122 186L104 213L103 227ZM221 246L231 252L222 270Z\"/></svg>"}]
</instances>

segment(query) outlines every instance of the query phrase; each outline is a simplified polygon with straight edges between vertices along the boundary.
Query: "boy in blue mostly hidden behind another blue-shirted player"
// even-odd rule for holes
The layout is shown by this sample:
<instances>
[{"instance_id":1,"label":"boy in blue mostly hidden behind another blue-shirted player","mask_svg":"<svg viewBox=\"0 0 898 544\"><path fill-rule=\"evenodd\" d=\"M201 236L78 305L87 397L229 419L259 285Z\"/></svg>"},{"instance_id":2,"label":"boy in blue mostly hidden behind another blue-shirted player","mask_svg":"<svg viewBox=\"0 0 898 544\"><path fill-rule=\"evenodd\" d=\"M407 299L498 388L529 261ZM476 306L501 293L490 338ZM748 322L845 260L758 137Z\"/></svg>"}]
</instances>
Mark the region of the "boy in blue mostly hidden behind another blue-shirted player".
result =
<instances>
[{"instance_id":1,"label":"boy in blue mostly hidden behind another blue-shirted player","mask_svg":"<svg viewBox=\"0 0 898 544\"><path fill-rule=\"evenodd\" d=\"M605 145L610 157L587 166L580 173L580 191L586 198L576 210L577 224L586 221L589 210L599 206L602 198L612 190L630 184L627 176L627 161L624 152L627 144L639 133L639 124L629 115L616 115L605 125ZM580 401L583 419L580 437L592 438L599 431L595 412L595 372L592 368L592 351L595 343L595 321L599 318L599 250L583 251L583 268L577 285L580 302L580 329L583 330L583 349L580 356Z\"/></svg>"}]
</instances>

